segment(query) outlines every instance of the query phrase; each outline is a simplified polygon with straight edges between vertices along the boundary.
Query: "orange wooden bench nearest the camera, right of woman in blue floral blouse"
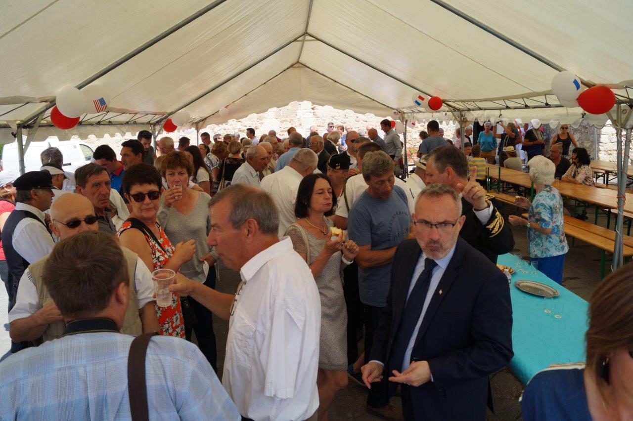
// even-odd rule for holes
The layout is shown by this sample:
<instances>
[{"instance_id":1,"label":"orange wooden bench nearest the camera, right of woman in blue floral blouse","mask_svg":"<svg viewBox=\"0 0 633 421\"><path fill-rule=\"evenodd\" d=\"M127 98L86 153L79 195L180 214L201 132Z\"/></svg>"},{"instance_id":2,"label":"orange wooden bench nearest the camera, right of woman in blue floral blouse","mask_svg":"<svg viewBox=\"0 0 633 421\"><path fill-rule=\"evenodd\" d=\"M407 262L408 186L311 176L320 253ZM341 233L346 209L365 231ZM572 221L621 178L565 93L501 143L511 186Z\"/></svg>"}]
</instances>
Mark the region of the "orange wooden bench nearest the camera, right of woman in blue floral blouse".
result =
<instances>
[{"instance_id":1,"label":"orange wooden bench nearest the camera, right of woman in blue floral blouse","mask_svg":"<svg viewBox=\"0 0 633 421\"><path fill-rule=\"evenodd\" d=\"M522 214L522 216L527 219L527 214ZM581 221L569 215L563 215L563 231L565 231L565 236L577 238L602 250L601 278L605 278L606 253L613 253L615 231ZM622 243L624 244L622 255L624 257L632 257L633 237L623 235Z\"/></svg>"}]
</instances>

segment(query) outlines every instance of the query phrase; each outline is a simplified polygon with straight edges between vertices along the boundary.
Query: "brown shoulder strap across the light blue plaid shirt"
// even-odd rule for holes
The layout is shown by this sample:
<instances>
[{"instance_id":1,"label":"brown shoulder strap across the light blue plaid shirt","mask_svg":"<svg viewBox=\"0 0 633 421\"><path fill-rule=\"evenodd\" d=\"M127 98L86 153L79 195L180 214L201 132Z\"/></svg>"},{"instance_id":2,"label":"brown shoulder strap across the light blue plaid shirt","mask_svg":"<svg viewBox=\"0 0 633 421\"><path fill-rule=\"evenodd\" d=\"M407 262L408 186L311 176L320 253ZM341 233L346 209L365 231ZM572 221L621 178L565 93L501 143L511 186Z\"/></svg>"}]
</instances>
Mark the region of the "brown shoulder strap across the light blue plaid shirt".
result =
<instances>
[{"instance_id":1,"label":"brown shoulder strap across the light blue plaid shirt","mask_svg":"<svg viewBox=\"0 0 633 421\"><path fill-rule=\"evenodd\" d=\"M152 336L157 334L157 332L151 332L137 336L130 346L127 358L127 392L130 400L130 415L133 421L149 421L145 357L149 341L151 341Z\"/></svg>"}]
</instances>

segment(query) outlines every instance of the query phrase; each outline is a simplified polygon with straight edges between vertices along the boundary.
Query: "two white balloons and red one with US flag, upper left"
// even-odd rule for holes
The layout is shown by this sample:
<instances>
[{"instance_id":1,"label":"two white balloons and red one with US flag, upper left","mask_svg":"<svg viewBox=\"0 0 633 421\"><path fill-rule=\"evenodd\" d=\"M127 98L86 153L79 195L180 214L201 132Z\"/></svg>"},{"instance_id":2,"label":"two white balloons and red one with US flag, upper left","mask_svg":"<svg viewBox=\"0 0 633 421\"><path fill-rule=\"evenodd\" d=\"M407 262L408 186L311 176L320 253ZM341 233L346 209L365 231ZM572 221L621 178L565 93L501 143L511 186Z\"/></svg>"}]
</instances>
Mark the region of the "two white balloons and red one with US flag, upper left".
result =
<instances>
[{"instance_id":1,"label":"two white balloons and red one with US flag, upper left","mask_svg":"<svg viewBox=\"0 0 633 421\"><path fill-rule=\"evenodd\" d=\"M82 114L102 113L108 109L110 94L103 85L90 85L82 90L67 86L57 94L56 106L51 109L51 122L67 130L79 123Z\"/></svg>"}]
</instances>

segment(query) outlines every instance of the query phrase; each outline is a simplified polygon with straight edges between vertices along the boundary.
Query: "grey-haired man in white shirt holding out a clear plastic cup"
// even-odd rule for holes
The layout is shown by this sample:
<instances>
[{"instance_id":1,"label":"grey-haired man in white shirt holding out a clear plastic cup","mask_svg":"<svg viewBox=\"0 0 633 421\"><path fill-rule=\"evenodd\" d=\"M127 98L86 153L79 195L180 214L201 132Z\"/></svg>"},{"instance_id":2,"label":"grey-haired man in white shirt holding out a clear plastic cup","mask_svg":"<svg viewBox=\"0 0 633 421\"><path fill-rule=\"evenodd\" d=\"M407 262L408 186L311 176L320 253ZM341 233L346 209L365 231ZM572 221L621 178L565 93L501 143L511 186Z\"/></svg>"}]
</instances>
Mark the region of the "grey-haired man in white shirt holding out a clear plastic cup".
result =
<instances>
[{"instance_id":1,"label":"grey-haired man in white shirt holding out a clear plastic cup","mask_svg":"<svg viewBox=\"0 0 633 421\"><path fill-rule=\"evenodd\" d=\"M213 197L210 216L208 245L240 272L237 294L181 275L170 290L229 319L222 384L242 417L316 419L321 304L310 268L290 238L277 237L277 209L268 194L231 185Z\"/></svg>"}]
</instances>

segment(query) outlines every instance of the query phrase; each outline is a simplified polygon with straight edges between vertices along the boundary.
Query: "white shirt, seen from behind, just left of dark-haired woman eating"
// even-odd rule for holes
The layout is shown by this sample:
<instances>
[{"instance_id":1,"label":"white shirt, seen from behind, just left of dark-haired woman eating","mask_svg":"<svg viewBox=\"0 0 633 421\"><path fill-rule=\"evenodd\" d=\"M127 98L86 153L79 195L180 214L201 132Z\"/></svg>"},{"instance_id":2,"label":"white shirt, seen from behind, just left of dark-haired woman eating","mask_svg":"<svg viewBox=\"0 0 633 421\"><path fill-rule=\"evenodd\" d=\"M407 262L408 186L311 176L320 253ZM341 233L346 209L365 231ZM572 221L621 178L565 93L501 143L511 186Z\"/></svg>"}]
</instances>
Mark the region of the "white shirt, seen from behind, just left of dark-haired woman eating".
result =
<instances>
[{"instance_id":1,"label":"white shirt, seen from behind, just left of dark-haired woman eating","mask_svg":"<svg viewBox=\"0 0 633 421\"><path fill-rule=\"evenodd\" d=\"M261 189L273 198L279 209L279 236L283 236L290 224L297 220L294 216L294 202L297 200L301 180L303 176L289 165L261 180Z\"/></svg>"}]
</instances>

